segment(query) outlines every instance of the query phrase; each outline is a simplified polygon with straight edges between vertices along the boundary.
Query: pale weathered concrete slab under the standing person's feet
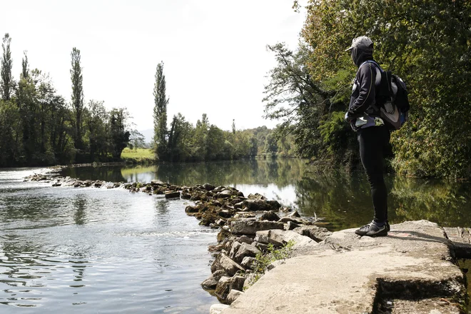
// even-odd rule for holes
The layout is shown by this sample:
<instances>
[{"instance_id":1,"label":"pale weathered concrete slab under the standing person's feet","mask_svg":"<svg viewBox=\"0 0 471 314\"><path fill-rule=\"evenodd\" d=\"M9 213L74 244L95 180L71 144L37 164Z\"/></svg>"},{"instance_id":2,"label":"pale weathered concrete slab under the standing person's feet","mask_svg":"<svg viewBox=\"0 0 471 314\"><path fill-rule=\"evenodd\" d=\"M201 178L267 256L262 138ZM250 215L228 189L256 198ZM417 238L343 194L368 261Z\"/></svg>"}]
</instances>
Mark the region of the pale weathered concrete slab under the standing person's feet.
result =
<instances>
[{"instance_id":1,"label":"pale weathered concrete slab under the standing person's feet","mask_svg":"<svg viewBox=\"0 0 471 314\"><path fill-rule=\"evenodd\" d=\"M428 221L391 229L381 238L333 233L263 275L222 314L460 313L465 277L443 229Z\"/></svg>"}]
</instances>

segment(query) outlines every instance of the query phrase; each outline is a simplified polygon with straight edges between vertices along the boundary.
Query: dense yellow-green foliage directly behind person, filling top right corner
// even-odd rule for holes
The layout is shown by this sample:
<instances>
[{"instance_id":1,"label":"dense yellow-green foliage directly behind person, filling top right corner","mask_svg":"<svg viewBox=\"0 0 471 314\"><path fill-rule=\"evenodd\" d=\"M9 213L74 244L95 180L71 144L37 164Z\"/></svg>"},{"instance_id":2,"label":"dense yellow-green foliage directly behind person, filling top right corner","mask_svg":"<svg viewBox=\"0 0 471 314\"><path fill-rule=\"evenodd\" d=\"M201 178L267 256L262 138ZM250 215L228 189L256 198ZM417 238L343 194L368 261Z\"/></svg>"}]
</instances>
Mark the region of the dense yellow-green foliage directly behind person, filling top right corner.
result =
<instances>
[{"instance_id":1,"label":"dense yellow-green foliage directly behind person, filling top right corner","mask_svg":"<svg viewBox=\"0 0 471 314\"><path fill-rule=\"evenodd\" d=\"M410 121L393 133L393 165L413 176L471 176L470 1L311 0L302 32L308 72L345 102L356 71L344 52L360 35L410 89ZM350 75L345 75L350 74Z\"/></svg>"}]
</instances>

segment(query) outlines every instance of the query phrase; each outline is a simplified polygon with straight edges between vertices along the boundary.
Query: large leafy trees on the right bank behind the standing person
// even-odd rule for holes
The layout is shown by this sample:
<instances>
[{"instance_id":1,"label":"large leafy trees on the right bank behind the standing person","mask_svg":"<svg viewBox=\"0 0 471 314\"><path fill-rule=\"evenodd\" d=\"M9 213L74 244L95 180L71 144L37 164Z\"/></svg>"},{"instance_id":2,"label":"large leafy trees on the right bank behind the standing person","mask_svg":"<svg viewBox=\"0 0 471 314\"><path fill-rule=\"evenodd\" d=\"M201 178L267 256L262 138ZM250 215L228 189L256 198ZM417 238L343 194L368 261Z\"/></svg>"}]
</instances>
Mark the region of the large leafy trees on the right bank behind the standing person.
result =
<instances>
[{"instance_id":1,"label":"large leafy trees on the right bank behind the standing person","mask_svg":"<svg viewBox=\"0 0 471 314\"><path fill-rule=\"evenodd\" d=\"M410 90L409 121L391 139L395 171L470 178L471 2L310 0L306 9L298 49L268 46L278 66L265 88L266 116L283 121L300 156L359 165L355 133L343 121L357 70L345 49L367 35L375 59Z\"/></svg>"}]
</instances>

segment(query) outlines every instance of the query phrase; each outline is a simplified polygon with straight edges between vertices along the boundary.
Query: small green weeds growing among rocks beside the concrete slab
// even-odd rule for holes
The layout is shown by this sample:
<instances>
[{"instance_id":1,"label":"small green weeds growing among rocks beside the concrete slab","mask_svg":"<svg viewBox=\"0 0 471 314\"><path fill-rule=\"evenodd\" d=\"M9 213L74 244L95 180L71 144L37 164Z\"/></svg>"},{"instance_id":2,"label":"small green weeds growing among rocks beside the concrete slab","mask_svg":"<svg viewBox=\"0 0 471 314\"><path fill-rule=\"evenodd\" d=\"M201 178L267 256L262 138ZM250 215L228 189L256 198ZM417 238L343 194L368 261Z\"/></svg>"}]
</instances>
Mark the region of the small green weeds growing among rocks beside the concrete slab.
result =
<instances>
[{"instance_id":1,"label":"small green weeds growing among rocks beside the concrete slab","mask_svg":"<svg viewBox=\"0 0 471 314\"><path fill-rule=\"evenodd\" d=\"M276 260L286 260L290 257L291 252L293 251L293 247L295 242L293 240L288 241L285 243L281 248L275 248L273 244L268 244L267 252L266 253L257 253L255 255L255 261L253 262L253 269L255 271L255 278L249 283L249 285L253 285L257 282L260 277L268 271L268 267L271 263L275 262Z\"/></svg>"}]
</instances>

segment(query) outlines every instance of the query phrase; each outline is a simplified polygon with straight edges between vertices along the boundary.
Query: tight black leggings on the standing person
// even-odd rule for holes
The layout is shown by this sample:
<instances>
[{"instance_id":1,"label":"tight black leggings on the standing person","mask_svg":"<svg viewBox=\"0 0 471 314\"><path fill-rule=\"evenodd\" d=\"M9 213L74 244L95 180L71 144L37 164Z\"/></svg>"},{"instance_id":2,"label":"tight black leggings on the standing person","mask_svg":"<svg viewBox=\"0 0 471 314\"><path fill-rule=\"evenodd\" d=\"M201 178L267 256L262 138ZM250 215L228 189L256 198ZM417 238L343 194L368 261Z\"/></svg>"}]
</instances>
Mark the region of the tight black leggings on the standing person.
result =
<instances>
[{"instance_id":1,"label":"tight black leggings on the standing person","mask_svg":"<svg viewBox=\"0 0 471 314\"><path fill-rule=\"evenodd\" d=\"M377 223L388 221L388 191L383 177L383 156L390 151L390 133L385 126L370 126L358 130L360 158L371 186L371 198Z\"/></svg>"}]
</instances>

